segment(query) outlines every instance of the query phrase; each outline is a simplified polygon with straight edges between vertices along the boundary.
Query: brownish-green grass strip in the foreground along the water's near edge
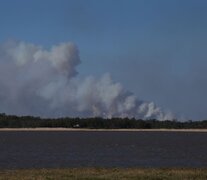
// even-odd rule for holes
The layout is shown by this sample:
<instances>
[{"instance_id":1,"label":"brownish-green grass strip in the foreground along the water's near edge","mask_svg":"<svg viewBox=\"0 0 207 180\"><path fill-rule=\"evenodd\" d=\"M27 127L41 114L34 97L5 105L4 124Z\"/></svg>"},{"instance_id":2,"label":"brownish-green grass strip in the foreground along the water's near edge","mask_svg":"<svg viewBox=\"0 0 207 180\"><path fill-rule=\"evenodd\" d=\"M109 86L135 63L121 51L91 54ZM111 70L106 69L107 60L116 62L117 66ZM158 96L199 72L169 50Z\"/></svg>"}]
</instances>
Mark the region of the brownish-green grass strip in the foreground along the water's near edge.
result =
<instances>
[{"instance_id":1,"label":"brownish-green grass strip in the foreground along the water's near edge","mask_svg":"<svg viewBox=\"0 0 207 180\"><path fill-rule=\"evenodd\" d=\"M113 180L193 180L207 179L207 169L147 169L147 168L68 168L0 170L0 180L51 180L51 179L113 179Z\"/></svg>"}]
</instances>

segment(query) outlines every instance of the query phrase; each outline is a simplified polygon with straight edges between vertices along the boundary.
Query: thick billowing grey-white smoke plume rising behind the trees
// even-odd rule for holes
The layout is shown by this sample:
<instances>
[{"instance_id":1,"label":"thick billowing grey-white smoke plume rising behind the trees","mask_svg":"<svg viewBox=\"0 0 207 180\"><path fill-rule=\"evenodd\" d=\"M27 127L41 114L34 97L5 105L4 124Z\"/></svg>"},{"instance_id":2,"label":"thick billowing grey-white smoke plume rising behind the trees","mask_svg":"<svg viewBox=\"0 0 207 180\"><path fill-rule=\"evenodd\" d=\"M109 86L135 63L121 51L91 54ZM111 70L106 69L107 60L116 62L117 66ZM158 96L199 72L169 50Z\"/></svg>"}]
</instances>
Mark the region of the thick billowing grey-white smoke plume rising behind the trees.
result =
<instances>
[{"instance_id":1,"label":"thick billowing grey-white smoke plume rising behind the trees","mask_svg":"<svg viewBox=\"0 0 207 180\"><path fill-rule=\"evenodd\" d=\"M62 43L43 49L25 42L0 45L0 111L43 117L101 116L172 119L153 102L144 102L115 83L76 77L77 47Z\"/></svg>"}]
</instances>

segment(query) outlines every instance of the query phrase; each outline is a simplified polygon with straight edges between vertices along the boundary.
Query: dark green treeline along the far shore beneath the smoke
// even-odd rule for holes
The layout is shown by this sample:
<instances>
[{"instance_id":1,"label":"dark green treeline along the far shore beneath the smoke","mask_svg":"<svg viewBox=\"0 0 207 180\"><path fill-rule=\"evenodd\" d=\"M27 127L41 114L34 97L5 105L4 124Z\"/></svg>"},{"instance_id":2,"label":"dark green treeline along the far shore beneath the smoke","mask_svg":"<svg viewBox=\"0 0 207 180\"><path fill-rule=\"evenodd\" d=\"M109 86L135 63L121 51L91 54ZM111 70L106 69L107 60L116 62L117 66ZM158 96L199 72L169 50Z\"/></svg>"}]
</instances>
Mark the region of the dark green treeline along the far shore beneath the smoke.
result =
<instances>
[{"instance_id":1,"label":"dark green treeline along the far shore beneath the smoke","mask_svg":"<svg viewBox=\"0 0 207 180\"><path fill-rule=\"evenodd\" d=\"M156 119L141 120L129 118L112 118L103 119L96 118L40 118L33 116L14 116L0 114L0 128L37 128L37 127L64 127L64 128L91 128L91 129L118 129L118 128L134 128L134 129L205 129L207 128L207 120L204 121L158 121Z\"/></svg>"}]
</instances>

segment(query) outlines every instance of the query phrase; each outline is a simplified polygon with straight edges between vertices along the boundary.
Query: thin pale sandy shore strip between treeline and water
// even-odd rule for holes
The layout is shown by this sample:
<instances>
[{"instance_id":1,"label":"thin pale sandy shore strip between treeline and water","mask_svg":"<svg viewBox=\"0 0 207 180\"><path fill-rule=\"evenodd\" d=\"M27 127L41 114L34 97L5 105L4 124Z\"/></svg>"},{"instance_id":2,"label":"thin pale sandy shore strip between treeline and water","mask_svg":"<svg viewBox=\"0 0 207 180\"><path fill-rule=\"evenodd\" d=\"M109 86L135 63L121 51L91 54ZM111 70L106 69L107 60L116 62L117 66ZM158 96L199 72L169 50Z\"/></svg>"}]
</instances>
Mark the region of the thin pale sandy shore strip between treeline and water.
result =
<instances>
[{"instance_id":1,"label":"thin pale sandy shore strip between treeline and water","mask_svg":"<svg viewBox=\"0 0 207 180\"><path fill-rule=\"evenodd\" d=\"M207 129L0 128L0 131L207 132Z\"/></svg>"}]
</instances>

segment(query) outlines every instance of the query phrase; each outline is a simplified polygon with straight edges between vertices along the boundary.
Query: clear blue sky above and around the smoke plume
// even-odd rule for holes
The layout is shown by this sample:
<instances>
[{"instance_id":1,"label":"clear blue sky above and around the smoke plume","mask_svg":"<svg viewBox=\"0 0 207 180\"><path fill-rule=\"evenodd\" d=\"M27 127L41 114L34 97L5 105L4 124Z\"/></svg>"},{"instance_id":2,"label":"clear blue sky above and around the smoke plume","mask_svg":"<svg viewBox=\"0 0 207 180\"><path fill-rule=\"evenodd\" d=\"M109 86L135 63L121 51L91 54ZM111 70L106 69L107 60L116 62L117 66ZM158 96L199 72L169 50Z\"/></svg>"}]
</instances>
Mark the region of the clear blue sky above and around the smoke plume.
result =
<instances>
[{"instance_id":1,"label":"clear blue sky above and around the smoke plume","mask_svg":"<svg viewBox=\"0 0 207 180\"><path fill-rule=\"evenodd\" d=\"M115 85L176 118L202 120L207 119L206 19L205 0L0 0L0 43L31 43L31 51L39 52L36 46L48 50L72 42L81 62L75 63L77 78L104 81L109 73Z\"/></svg>"}]
</instances>

